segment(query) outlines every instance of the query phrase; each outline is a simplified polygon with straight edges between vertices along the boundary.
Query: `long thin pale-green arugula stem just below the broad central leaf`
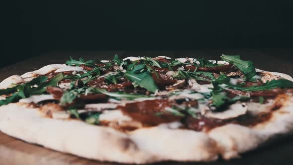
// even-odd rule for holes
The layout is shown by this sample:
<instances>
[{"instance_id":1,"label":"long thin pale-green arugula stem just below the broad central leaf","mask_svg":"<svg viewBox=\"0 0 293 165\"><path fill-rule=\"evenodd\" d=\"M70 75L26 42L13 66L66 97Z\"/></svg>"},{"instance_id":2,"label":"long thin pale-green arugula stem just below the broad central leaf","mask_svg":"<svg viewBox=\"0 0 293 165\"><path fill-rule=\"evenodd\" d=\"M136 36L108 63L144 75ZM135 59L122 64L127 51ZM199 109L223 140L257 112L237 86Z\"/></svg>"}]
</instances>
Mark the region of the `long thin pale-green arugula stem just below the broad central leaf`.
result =
<instances>
[{"instance_id":1,"label":"long thin pale-green arugula stem just below the broad central leaf","mask_svg":"<svg viewBox=\"0 0 293 165\"><path fill-rule=\"evenodd\" d=\"M147 96L147 95L130 94L130 93L124 93L124 92L108 92L106 89L99 89L99 88L91 88L91 90L93 90L95 92L106 94L111 97L116 97L116 98L135 99L135 98L151 97L151 96Z\"/></svg>"}]
</instances>

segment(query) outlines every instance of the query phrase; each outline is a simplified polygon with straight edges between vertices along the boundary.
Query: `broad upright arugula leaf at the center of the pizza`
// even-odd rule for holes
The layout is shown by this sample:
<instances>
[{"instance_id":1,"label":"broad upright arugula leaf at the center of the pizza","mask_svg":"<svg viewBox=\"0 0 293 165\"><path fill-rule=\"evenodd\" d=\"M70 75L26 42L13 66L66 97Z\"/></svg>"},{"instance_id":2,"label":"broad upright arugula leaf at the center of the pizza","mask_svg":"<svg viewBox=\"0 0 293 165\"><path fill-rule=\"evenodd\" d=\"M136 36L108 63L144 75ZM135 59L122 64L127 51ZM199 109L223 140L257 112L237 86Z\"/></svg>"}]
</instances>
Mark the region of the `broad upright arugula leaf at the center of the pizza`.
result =
<instances>
[{"instance_id":1,"label":"broad upright arugula leaf at the center of the pizza","mask_svg":"<svg viewBox=\"0 0 293 165\"><path fill-rule=\"evenodd\" d=\"M148 91L155 92L158 90L157 85L154 83L150 72L144 71L146 69L146 65L140 64L134 66L132 71L127 71L125 76L128 80L135 83L135 85L139 85L141 87L146 88Z\"/></svg>"}]
</instances>

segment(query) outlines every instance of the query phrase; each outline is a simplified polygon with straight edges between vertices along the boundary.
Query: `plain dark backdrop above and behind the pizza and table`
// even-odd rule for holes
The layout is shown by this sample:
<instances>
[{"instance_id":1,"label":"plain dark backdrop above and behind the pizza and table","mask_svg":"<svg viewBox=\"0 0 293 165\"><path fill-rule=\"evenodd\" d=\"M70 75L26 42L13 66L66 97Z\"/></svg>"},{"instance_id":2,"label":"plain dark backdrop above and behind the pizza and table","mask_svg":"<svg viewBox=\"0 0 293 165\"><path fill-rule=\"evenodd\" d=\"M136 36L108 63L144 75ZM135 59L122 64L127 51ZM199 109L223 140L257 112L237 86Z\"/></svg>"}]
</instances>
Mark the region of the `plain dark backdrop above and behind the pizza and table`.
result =
<instances>
[{"instance_id":1,"label":"plain dark backdrop above and behind the pizza and table","mask_svg":"<svg viewBox=\"0 0 293 165\"><path fill-rule=\"evenodd\" d=\"M55 51L293 45L292 0L19 0L2 8L0 67Z\"/></svg>"}]
</instances>

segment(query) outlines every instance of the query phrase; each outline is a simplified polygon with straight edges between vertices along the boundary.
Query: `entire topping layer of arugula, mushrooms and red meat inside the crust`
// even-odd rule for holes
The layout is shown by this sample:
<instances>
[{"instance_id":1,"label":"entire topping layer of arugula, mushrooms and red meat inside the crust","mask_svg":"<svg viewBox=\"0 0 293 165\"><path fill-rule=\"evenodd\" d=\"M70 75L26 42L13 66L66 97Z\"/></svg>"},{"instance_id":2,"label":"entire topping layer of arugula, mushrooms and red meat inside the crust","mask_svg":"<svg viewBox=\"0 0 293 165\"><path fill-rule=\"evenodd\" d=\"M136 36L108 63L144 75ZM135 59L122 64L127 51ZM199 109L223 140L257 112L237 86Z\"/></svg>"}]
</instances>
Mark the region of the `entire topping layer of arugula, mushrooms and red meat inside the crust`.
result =
<instances>
[{"instance_id":1,"label":"entire topping layer of arugula, mushrooms and red meat inside the crust","mask_svg":"<svg viewBox=\"0 0 293 165\"><path fill-rule=\"evenodd\" d=\"M7 96L0 105L26 98L21 101L41 100L40 111L56 119L70 117L123 131L146 126L202 131L266 121L270 112L251 111L268 107L272 98L293 88L293 82L279 76L256 74L253 63L240 56L221 58L224 62L118 55L112 61L70 58L68 66L0 89ZM48 93L54 102L41 99ZM274 105L269 109L280 108Z\"/></svg>"}]
</instances>

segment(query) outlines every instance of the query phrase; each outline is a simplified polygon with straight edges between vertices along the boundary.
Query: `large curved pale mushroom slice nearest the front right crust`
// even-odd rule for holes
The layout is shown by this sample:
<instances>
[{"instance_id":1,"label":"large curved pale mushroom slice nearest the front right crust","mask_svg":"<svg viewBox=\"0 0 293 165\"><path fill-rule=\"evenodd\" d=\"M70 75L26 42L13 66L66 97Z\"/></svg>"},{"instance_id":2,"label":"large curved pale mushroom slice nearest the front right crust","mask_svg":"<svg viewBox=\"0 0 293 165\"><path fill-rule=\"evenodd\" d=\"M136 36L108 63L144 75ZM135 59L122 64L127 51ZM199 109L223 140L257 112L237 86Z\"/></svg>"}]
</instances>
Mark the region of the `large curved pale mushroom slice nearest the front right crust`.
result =
<instances>
[{"instance_id":1,"label":"large curved pale mushroom slice nearest the front right crust","mask_svg":"<svg viewBox=\"0 0 293 165\"><path fill-rule=\"evenodd\" d=\"M245 103L235 103L229 106L229 108L225 111L221 112L213 112L208 111L205 116L216 118L216 119L231 119L241 115L244 115L247 112L247 105Z\"/></svg>"}]
</instances>

